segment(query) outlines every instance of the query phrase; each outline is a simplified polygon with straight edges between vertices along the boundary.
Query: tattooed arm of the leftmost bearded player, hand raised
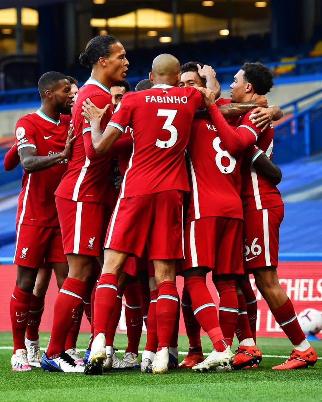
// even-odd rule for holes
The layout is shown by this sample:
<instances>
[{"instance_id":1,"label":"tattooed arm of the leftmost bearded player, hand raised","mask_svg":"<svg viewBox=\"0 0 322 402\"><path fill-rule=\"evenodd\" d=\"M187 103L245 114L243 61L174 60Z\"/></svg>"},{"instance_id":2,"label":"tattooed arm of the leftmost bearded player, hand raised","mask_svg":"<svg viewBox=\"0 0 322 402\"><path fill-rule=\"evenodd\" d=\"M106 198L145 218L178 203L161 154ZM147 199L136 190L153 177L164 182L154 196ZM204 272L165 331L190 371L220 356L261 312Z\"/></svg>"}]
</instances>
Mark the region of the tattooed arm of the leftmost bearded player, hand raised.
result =
<instances>
[{"instance_id":1,"label":"tattooed arm of the leftmost bearded player, hand raised","mask_svg":"<svg viewBox=\"0 0 322 402\"><path fill-rule=\"evenodd\" d=\"M39 170L49 169L64 159L70 157L72 143L76 137L73 137L74 128L68 131L65 149L63 152L55 155L38 156L37 150L33 147L25 147L19 150L21 165L26 173L39 172Z\"/></svg>"}]
</instances>

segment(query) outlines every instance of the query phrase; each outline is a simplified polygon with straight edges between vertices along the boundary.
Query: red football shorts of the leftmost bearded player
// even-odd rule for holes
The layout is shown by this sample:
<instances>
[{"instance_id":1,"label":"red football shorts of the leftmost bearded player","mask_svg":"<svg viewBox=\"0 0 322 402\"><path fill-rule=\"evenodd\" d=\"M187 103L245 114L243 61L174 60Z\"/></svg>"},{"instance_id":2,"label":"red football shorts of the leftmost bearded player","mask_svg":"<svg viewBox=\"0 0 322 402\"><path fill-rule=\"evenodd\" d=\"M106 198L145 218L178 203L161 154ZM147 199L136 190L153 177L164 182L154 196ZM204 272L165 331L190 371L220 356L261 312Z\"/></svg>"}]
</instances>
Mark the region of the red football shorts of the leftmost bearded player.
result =
<instances>
[{"instance_id":1,"label":"red football shorts of the leftmost bearded player","mask_svg":"<svg viewBox=\"0 0 322 402\"><path fill-rule=\"evenodd\" d=\"M13 262L29 268L42 268L46 263L66 263L60 227L18 224Z\"/></svg>"}]
</instances>

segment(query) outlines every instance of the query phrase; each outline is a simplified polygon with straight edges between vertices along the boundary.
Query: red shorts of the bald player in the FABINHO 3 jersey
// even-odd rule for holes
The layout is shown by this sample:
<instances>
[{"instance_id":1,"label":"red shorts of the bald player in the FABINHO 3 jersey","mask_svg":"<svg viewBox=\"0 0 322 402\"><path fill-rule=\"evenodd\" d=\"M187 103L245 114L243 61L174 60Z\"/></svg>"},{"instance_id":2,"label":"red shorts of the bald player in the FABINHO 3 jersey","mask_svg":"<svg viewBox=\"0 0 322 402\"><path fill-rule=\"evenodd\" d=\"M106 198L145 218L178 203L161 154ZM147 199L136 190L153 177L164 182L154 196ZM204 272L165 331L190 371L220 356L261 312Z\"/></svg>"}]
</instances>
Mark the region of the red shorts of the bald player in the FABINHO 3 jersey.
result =
<instances>
[{"instance_id":1,"label":"red shorts of the bald player in the FABINHO 3 jersey","mask_svg":"<svg viewBox=\"0 0 322 402\"><path fill-rule=\"evenodd\" d=\"M105 248L150 260L183 258L183 192L178 190L119 198L107 229Z\"/></svg>"}]
</instances>

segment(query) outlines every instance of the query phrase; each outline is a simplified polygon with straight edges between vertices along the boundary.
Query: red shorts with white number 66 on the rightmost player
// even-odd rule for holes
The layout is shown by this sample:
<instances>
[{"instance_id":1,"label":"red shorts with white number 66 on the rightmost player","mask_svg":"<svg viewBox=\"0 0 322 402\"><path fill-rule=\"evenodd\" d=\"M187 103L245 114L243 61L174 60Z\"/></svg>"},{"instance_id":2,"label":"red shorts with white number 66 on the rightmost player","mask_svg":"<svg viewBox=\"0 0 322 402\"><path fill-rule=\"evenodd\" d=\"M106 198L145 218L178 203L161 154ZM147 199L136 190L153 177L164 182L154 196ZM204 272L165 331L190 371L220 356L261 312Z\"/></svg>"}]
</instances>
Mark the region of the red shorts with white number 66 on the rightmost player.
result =
<instances>
[{"instance_id":1,"label":"red shorts with white number 66 on the rightmost player","mask_svg":"<svg viewBox=\"0 0 322 402\"><path fill-rule=\"evenodd\" d=\"M244 212L244 267L277 267L284 206Z\"/></svg>"}]
</instances>

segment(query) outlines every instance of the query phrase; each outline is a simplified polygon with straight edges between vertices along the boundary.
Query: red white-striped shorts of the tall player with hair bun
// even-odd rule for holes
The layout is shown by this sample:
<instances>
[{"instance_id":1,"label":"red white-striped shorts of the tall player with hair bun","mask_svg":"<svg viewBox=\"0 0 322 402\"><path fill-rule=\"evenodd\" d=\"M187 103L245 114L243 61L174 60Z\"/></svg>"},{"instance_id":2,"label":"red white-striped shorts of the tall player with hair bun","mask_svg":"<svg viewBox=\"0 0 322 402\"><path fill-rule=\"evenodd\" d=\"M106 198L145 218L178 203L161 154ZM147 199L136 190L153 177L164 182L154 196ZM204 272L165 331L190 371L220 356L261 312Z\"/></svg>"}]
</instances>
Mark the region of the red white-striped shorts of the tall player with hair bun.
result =
<instances>
[{"instance_id":1,"label":"red white-striped shorts of the tall player with hair bun","mask_svg":"<svg viewBox=\"0 0 322 402\"><path fill-rule=\"evenodd\" d=\"M100 256L109 221L109 207L103 203L77 202L56 196L65 254Z\"/></svg>"}]
</instances>

